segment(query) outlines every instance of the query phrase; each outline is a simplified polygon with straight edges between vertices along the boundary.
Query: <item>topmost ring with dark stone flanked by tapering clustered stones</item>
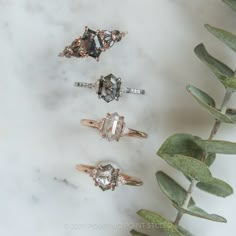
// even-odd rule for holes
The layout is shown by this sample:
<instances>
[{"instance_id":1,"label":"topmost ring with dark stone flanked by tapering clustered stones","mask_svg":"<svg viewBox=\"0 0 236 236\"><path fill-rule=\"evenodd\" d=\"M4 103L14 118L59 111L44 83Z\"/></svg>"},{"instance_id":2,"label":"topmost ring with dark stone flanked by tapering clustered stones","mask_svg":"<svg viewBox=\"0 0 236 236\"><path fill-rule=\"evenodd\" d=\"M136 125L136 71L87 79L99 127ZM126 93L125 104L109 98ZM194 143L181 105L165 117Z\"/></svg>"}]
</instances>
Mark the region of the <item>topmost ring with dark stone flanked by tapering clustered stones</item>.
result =
<instances>
[{"instance_id":1,"label":"topmost ring with dark stone flanked by tapering clustered stones","mask_svg":"<svg viewBox=\"0 0 236 236\"><path fill-rule=\"evenodd\" d=\"M97 30L93 31L85 27L85 32L82 37L75 39L69 46L59 54L60 57L93 57L97 61L102 52L111 48L114 43L119 42L125 32L119 30Z\"/></svg>"}]
</instances>

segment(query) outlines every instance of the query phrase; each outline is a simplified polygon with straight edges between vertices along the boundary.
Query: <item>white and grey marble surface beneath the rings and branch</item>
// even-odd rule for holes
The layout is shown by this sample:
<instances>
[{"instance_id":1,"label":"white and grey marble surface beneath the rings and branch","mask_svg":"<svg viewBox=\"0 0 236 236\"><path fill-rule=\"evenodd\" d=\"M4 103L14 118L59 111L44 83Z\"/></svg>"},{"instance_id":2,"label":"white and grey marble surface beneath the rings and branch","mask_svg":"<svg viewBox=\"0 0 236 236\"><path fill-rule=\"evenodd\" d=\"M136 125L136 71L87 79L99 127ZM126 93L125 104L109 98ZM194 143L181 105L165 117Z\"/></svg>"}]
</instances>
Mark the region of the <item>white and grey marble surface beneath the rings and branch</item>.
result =
<instances>
[{"instance_id":1,"label":"white and grey marble surface beneath the rings and branch","mask_svg":"<svg viewBox=\"0 0 236 236\"><path fill-rule=\"evenodd\" d=\"M234 53L203 27L210 23L235 32L235 20L220 0L0 0L0 234L129 235L131 228L142 227L135 214L140 208L174 219L176 210L154 174L163 170L184 187L188 182L155 153L173 133L208 136L214 121L185 86L204 89L218 103L223 88L193 48L204 42L235 68ZM99 63L57 57L86 25L129 34ZM146 95L106 104L91 91L73 87L75 81L94 82L111 72L127 86L146 89ZM109 143L80 125L82 118L114 111L149 138ZM236 141L236 128L223 125L216 138ZM102 192L75 170L78 163L109 160L142 178L144 186ZM235 156L219 156L212 172L236 188L235 165ZM228 223L185 216L186 228L201 236L236 234L236 195L221 199L196 190L194 196L199 206ZM161 234L151 230L150 235Z\"/></svg>"}]
</instances>

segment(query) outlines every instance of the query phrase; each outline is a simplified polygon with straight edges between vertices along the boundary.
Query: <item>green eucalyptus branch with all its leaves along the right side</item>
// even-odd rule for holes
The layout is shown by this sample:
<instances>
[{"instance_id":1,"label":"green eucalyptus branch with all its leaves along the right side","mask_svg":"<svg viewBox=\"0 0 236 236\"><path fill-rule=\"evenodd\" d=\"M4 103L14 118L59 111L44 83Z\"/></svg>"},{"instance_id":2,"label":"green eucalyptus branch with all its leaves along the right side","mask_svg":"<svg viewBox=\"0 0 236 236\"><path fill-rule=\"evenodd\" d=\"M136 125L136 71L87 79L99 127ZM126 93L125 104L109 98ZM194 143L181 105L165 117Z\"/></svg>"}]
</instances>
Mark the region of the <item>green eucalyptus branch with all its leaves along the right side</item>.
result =
<instances>
[{"instance_id":1,"label":"green eucalyptus branch with all its leaves along the right side","mask_svg":"<svg viewBox=\"0 0 236 236\"><path fill-rule=\"evenodd\" d=\"M236 11L236 0L223 1ZM236 52L235 34L211 25L205 25L205 27L211 34ZM184 214L219 223L227 222L223 216L209 214L198 207L192 197L195 187L218 197L228 197L233 194L233 188L230 184L214 177L209 167L218 153L236 155L236 142L214 140L221 123L236 124L236 109L232 109L232 112L227 112L228 102L232 93L236 91L236 73L229 66L208 53L203 43L197 45L194 52L215 74L219 82L226 88L226 92L220 109L217 109L215 107L216 103L210 95L195 86L188 85L186 87L187 91L216 120L210 135L208 139L204 140L192 134L173 134L165 140L157 151L157 155L166 161L167 164L182 172L191 180L190 185L188 190L186 190L171 176L163 171L158 171L156 173L157 182L162 192L177 209L176 218L173 222L156 212L146 209L139 210L137 214L149 223L161 225L161 229L170 236L193 235L180 225ZM131 231L131 234L133 236L147 236L134 230Z\"/></svg>"}]
</instances>

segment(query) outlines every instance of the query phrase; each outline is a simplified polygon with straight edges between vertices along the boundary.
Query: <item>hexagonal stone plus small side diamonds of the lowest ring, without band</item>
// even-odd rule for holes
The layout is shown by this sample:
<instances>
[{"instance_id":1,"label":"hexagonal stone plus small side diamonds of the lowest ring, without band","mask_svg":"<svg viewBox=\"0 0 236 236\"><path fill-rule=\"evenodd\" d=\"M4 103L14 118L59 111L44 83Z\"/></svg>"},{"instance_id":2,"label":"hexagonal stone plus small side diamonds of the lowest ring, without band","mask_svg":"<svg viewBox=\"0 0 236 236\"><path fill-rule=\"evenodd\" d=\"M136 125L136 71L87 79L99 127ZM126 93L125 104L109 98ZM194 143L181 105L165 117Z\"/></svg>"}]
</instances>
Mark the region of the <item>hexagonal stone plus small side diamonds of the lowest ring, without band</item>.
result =
<instances>
[{"instance_id":1,"label":"hexagonal stone plus small side diamonds of the lowest ring, without band","mask_svg":"<svg viewBox=\"0 0 236 236\"><path fill-rule=\"evenodd\" d=\"M119 178L119 169L115 169L111 164L99 165L94 169L90 176L93 178L95 185L103 191L114 190L116 186L124 184L124 180Z\"/></svg>"}]
</instances>

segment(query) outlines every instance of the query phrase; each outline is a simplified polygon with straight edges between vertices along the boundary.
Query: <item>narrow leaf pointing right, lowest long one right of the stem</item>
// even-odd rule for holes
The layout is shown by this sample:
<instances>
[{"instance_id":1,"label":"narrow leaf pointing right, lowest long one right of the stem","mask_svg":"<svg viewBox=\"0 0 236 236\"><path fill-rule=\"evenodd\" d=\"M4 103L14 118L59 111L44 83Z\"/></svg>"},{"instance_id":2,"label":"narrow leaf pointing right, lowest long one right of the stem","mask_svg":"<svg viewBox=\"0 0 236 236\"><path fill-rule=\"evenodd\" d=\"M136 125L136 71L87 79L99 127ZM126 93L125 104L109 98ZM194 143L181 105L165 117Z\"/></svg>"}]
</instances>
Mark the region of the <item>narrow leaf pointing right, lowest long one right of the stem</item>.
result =
<instances>
[{"instance_id":1,"label":"narrow leaf pointing right, lowest long one right of the stem","mask_svg":"<svg viewBox=\"0 0 236 236\"><path fill-rule=\"evenodd\" d=\"M196 216L199 218L211 220L211 221L216 221L216 222L221 222L221 223L226 223L227 220L219 215L216 214L208 214L206 211L203 209L197 207L197 206L189 206L187 209L184 209L176 204L173 204L173 206L180 212L192 216Z\"/></svg>"}]
</instances>

